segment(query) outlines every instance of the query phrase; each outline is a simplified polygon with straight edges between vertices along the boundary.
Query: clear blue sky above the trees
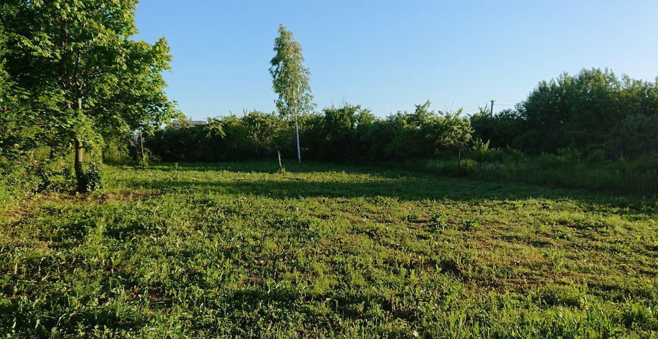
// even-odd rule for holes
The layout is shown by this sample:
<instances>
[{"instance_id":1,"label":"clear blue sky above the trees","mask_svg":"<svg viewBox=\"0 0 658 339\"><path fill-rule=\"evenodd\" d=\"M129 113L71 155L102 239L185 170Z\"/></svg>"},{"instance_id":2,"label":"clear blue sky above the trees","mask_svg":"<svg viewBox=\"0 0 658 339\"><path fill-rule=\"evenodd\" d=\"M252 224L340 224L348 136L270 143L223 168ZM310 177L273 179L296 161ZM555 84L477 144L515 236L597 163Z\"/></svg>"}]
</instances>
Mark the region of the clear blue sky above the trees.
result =
<instances>
[{"instance_id":1,"label":"clear blue sky above the trees","mask_svg":"<svg viewBox=\"0 0 658 339\"><path fill-rule=\"evenodd\" d=\"M311 69L318 110L343 100L386 116L432 101L495 111L581 68L658 76L658 1L143 0L139 39L166 37L167 93L195 120L274 110L278 24Z\"/></svg>"}]
</instances>

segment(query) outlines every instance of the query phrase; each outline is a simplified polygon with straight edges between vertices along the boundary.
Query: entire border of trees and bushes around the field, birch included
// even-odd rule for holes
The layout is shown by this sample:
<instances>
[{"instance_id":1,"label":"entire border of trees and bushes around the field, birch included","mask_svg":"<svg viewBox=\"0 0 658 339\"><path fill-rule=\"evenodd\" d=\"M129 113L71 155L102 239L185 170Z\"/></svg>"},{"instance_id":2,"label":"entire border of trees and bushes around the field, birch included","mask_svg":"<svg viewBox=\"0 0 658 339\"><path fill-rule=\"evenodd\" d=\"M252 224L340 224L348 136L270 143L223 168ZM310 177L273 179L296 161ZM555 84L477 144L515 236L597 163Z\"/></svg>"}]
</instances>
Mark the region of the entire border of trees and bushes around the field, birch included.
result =
<instances>
[{"instance_id":1,"label":"entire border of trees and bushes around the field, birch included","mask_svg":"<svg viewBox=\"0 0 658 339\"><path fill-rule=\"evenodd\" d=\"M34 190L59 177L88 191L99 178L99 166L83 163L89 153L108 159L130 152L126 136L136 130L144 136L140 147L165 161L243 160L280 150L299 162L451 159L461 168L463 157L501 162L578 154L643 164L638 171L658 168L658 78L598 68L565 73L497 114L434 111L429 101L385 117L350 103L316 111L301 45L282 25L269 68L275 112L172 128L183 115L164 93L170 50L164 38L134 39L137 3L0 5L1 181Z\"/></svg>"}]
</instances>

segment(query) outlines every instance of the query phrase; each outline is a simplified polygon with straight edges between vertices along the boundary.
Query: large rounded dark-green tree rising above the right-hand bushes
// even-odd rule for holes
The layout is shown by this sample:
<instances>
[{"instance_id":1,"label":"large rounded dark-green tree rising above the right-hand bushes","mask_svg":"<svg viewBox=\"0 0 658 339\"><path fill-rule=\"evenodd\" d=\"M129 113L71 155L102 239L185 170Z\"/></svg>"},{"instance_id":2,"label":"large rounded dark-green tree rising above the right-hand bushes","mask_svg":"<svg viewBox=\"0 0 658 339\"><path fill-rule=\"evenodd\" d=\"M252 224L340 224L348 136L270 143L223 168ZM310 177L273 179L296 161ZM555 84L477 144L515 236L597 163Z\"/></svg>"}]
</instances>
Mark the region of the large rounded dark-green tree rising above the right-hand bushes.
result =
<instances>
[{"instance_id":1,"label":"large rounded dark-green tree rising above the right-hand bushes","mask_svg":"<svg viewBox=\"0 0 658 339\"><path fill-rule=\"evenodd\" d=\"M542 81L517 106L523 132L514 145L530 153L609 148L609 131L626 116L655 114L654 86L598 68Z\"/></svg>"}]
</instances>

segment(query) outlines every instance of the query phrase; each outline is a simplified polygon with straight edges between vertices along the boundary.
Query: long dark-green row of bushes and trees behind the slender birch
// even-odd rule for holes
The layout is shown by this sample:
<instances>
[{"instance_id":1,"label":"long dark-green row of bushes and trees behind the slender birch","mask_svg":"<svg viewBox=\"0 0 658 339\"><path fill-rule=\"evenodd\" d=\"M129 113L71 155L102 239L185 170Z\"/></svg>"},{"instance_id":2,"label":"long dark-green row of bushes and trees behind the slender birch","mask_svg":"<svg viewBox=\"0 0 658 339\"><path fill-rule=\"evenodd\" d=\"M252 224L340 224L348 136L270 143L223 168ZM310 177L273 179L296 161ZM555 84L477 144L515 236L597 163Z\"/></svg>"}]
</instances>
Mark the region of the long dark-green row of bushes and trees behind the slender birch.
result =
<instances>
[{"instance_id":1,"label":"long dark-green row of bushes and trees behind the slender birch","mask_svg":"<svg viewBox=\"0 0 658 339\"><path fill-rule=\"evenodd\" d=\"M658 152L658 79L639 81L584 69L541 81L515 108L466 116L434 111L430 102L384 118L345 103L299 116L302 156L315 160L422 160L519 150L635 159ZM292 156L293 124L258 110L212 118L207 125L156 131L147 141L166 161L222 161Z\"/></svg>"}]
</instances>

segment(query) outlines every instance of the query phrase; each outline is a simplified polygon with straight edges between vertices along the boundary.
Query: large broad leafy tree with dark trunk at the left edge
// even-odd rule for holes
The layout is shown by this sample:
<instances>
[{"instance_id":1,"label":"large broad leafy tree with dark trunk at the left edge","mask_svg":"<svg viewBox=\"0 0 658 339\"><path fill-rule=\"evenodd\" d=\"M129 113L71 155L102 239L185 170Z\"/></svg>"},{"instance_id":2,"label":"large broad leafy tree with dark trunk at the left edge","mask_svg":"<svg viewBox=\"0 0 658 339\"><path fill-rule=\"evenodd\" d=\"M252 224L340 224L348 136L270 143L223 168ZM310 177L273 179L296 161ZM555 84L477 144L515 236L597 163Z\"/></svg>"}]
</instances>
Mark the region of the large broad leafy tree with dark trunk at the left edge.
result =
<instances>
[{"instance_id":1,"label":"large broad leafy tree with dark trunk at the left edge","mask_svg":"<svg viewBox=\"0 0 658 339\"><path fill-rule=\"evenodd\" d=\"M103 136L176 116L163 93L166 41L134 41L136 0L17 0L3 5L7 71L36 106L30 124L74 145L78 191L85 148Z\"/></svg>"}]
</instances>

